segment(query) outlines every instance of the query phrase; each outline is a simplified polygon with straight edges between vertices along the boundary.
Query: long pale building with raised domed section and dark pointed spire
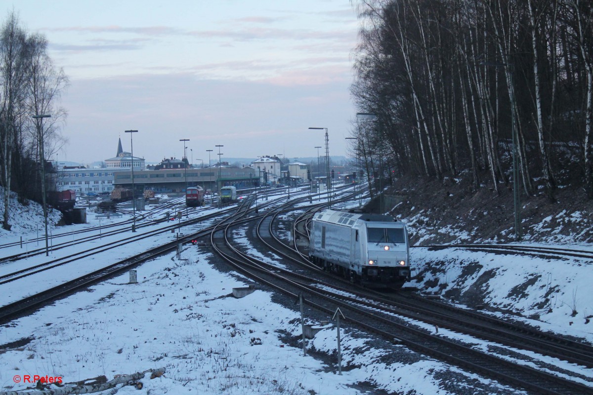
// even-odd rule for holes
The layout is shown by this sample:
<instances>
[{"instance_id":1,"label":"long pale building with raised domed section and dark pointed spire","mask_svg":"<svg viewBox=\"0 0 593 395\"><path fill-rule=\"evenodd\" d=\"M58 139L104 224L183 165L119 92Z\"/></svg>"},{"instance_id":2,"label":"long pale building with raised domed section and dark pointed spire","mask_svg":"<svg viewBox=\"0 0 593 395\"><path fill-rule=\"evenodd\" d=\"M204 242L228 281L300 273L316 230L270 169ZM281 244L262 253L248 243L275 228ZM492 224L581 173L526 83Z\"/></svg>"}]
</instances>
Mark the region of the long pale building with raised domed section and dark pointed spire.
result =
<instances>
[{"instance_id":1,"label":"long pale building with raised domed section and dark pointed spire","mask_svg":"<svg viewBox=\"0 0 593 395\"><path fill-rule=\"evenodd\" d=\"M132 158L132 154L122 149L122 139L117 144L117 156L106 159L106 168L90 169L85 166L58 166L56 191L74 190L78 193L113 191L114 173L123 170L144 170L143 158Z\"/></svg>"}]
</instances>

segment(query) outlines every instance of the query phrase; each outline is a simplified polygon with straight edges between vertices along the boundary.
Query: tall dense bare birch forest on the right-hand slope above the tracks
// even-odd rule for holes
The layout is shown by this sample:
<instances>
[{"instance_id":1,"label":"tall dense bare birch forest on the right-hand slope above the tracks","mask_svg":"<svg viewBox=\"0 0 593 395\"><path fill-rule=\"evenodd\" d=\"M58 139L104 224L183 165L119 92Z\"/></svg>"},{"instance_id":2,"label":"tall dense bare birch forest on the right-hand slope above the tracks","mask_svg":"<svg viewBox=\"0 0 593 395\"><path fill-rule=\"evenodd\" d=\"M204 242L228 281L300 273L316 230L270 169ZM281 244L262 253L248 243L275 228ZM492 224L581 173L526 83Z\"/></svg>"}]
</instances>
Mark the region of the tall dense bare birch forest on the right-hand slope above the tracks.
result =
<instances>
[{"instance_id":1,"label":"tall dense bare birch forest on the right-hand slope above the tracks","mask_svg":"<svg viewBox=\"0 0 593 395\"><path fill-rule=\"evenodd\" d=\"M593 198L593 2L362 0L351 149L366 175L557 180ZM515 131L515 133L513 133ZM388 172L388 173L387 173ZM566 178L566 177L564 177Z\"/></svg>"}]
</instances>

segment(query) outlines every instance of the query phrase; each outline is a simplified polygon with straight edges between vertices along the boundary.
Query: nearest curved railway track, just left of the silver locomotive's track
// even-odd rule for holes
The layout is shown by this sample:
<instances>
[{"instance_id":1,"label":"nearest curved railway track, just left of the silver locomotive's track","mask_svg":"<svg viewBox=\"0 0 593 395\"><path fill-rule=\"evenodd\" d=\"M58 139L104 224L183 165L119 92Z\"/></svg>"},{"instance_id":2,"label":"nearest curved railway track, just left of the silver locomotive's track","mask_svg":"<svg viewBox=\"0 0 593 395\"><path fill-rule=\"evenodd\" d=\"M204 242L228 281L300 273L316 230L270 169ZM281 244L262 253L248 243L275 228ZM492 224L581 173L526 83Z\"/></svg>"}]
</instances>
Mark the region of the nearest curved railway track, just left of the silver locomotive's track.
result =
<instances>
[{"instance_id":1,"label":"nearest curved railway track, just left of the silver locomotive's track","mask_svg":"<svg viewBox=\"0 0 593 395\"><path fill-rule=\"evenodd\" d=\"M266 224L267 223L267 224ZM262 225L269 227L270 235L273 234L271 230L272 220L266 220L265 217L260 220L257 229L260 229ZM220 228L212 233L211 242L215 246L216 251L225 259L229 264L234 265L240 271L245 272L249 277L257 279L257 281L263 284L270 285L277 290L289 293L295 297L299 292L307 292L308 303L321 311L326 311L331 314L335 310L335 306L340 306L343 311L348 311L347 317L350 322L355 325L364 327L367 330L372 330L376 333L381 333L387 338L397 338L401 343L406 344L409 348L415 349L416 351L428 354L438 359L448 361L451 364L463 367L466 370L478 372L479 374L486 375L487 377L495 378L496 380L502 380L512 386L519 388L527 388L528 390L535 391L537 393L546 394L587 394L593 393L593 387L586 386L582 382L588 380L587 377L579 377L578 374L573 375L570 378L559 377L556 374L551 374L548 371L540 370L539 368L530 368L525 366L522 361L510 361L500 356L492 356L482 351L476 350L471 346L460 344L458 341L451 341L444 338L444 336L435 336L433 333L425 329L416 329L410 326L410 319L416 321L432 320L435 322L436 319L441 319L439 323L445 323L445 318L448 320L457 320L458 317L453 316L449 313L449 317L445 317L444 314L440 316L435 314L435 307L431 309L425 307L421 317L418 310L415 311L403 310L401 306L396 306L393 300L383 298L377 300L376 293L362 293L358 290L353 291L352 287L339 287L334 282L320 281L320 272L315 273L315 277L310 277L300 274L302 272L302 266L299 269L295 269L291 266L291 269L285 270L276 267L275 265L267 264L266 262L260 261L247 256L246 253L238 251L234 247L233 242L229 241L228 233L231 225L227 224L224 229ZM250 233L250 232L247 232ZM260 232L261 233L261 232ZM260 239L263 238L260 236ZM284 242L278 242L282 246L286 246ZM270 245L268 245L270 247ZM279 250L274 251L284 258L288 258L288 254L281 253ZM302 256L293 251L291 260L299 261ZM283 261L286 265L288 259ZM302 262L301 262L302 263ZM306 265L306 264L305 264ZM302 277L301 277L302 276ZM364 303L363 303L364 302ZM328 307L328 304L331 307ZM409 305L409 299L406 305ZM361 306L362 305L362 306ZM479 315L479 314L478 314ZM407 319L401 319L401 317ZM410 318L412 317L412 318ZM478 320L479 321L479 320ZM431 322L431 325L433 325ZM484 324L474 323L474 326L487 326ZM451 326L451 323L449 323ZM466 325L458 325L456 329L464 329L465 332L470 332L470 329ZM491 332L491 331L490 331ZM503 332L503 330L500 330ZM477 333L474 330L474 335L482 338L483 333ZM499 333L500 335L500 333ZM508 339L502 339L500 336L489 335L487 341L499 341L499 342L510 342ZM519 342L511 346L521 345L525 341L528 335L519 336ZM498 345L497 345L498 346ZM577 345L579 346L579 345ZM536 346L533 346L535 348ZM544 351L545 348L551 348L549 343L540 342L538 345L540 351ZM564 353L559 358L564 358L566 355L570 355L573 362L582 362L586 365L591 364L593 354L589 355L589 351L570 349L572 346L568 345L554 345L556 351ZM543 348L543 349L542 349ZM559 351L560 350L560 351ZM543 353L546 355L546 352ZM566 374L565 372L563 374Z\"/></svg>"}]
</instances>

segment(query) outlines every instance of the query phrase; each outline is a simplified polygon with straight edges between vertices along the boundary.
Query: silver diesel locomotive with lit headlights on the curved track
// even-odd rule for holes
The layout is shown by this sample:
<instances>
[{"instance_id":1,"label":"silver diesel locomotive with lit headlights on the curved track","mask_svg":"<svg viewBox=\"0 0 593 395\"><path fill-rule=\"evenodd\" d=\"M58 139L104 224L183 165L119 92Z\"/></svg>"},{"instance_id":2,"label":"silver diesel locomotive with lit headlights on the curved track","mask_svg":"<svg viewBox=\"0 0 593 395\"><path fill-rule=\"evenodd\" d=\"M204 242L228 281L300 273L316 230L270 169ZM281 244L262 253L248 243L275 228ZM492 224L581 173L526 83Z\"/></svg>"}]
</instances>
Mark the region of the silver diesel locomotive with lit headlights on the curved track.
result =
<instances>
[{"instance_id":1,"label":"silver diesel locomotive with lit headlights on the curved track","mask_svg":"<svg viewBox=\"0 0 593 395\"><path fill-rule=\"evenodd\" d=\"M410 280L406 225L389 216L337 210L315 213L309 256L352 282L401 287Z\"/></svg>"}]
</instances>

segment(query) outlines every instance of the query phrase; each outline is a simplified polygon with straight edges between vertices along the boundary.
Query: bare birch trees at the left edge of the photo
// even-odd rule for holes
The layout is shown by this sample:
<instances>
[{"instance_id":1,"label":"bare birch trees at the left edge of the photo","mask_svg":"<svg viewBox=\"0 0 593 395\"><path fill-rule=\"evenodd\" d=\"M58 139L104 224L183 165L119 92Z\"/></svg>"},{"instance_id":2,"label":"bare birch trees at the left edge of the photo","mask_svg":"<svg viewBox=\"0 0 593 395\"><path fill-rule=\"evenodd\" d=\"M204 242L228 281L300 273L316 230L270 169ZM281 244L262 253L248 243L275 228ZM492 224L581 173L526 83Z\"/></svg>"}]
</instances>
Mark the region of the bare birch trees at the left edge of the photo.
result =
<instances>
[{"instance_id":1,"label":"bare birch trees at the left edge of the photo","mask_svg":"<svg viewBox=\"0 0 593 395\"><path fill-rule=\"evenodd\" d=\"M47 54L46 37L28 33L11 12L0 26L0 186L4 216L10 230L9 192L21 203L42 201L42 158L50 158L65 143L60 125L66 111L59 99L68 78ZM43 124L34 115L51 115Z\"/></svg>"}]
</instances>

